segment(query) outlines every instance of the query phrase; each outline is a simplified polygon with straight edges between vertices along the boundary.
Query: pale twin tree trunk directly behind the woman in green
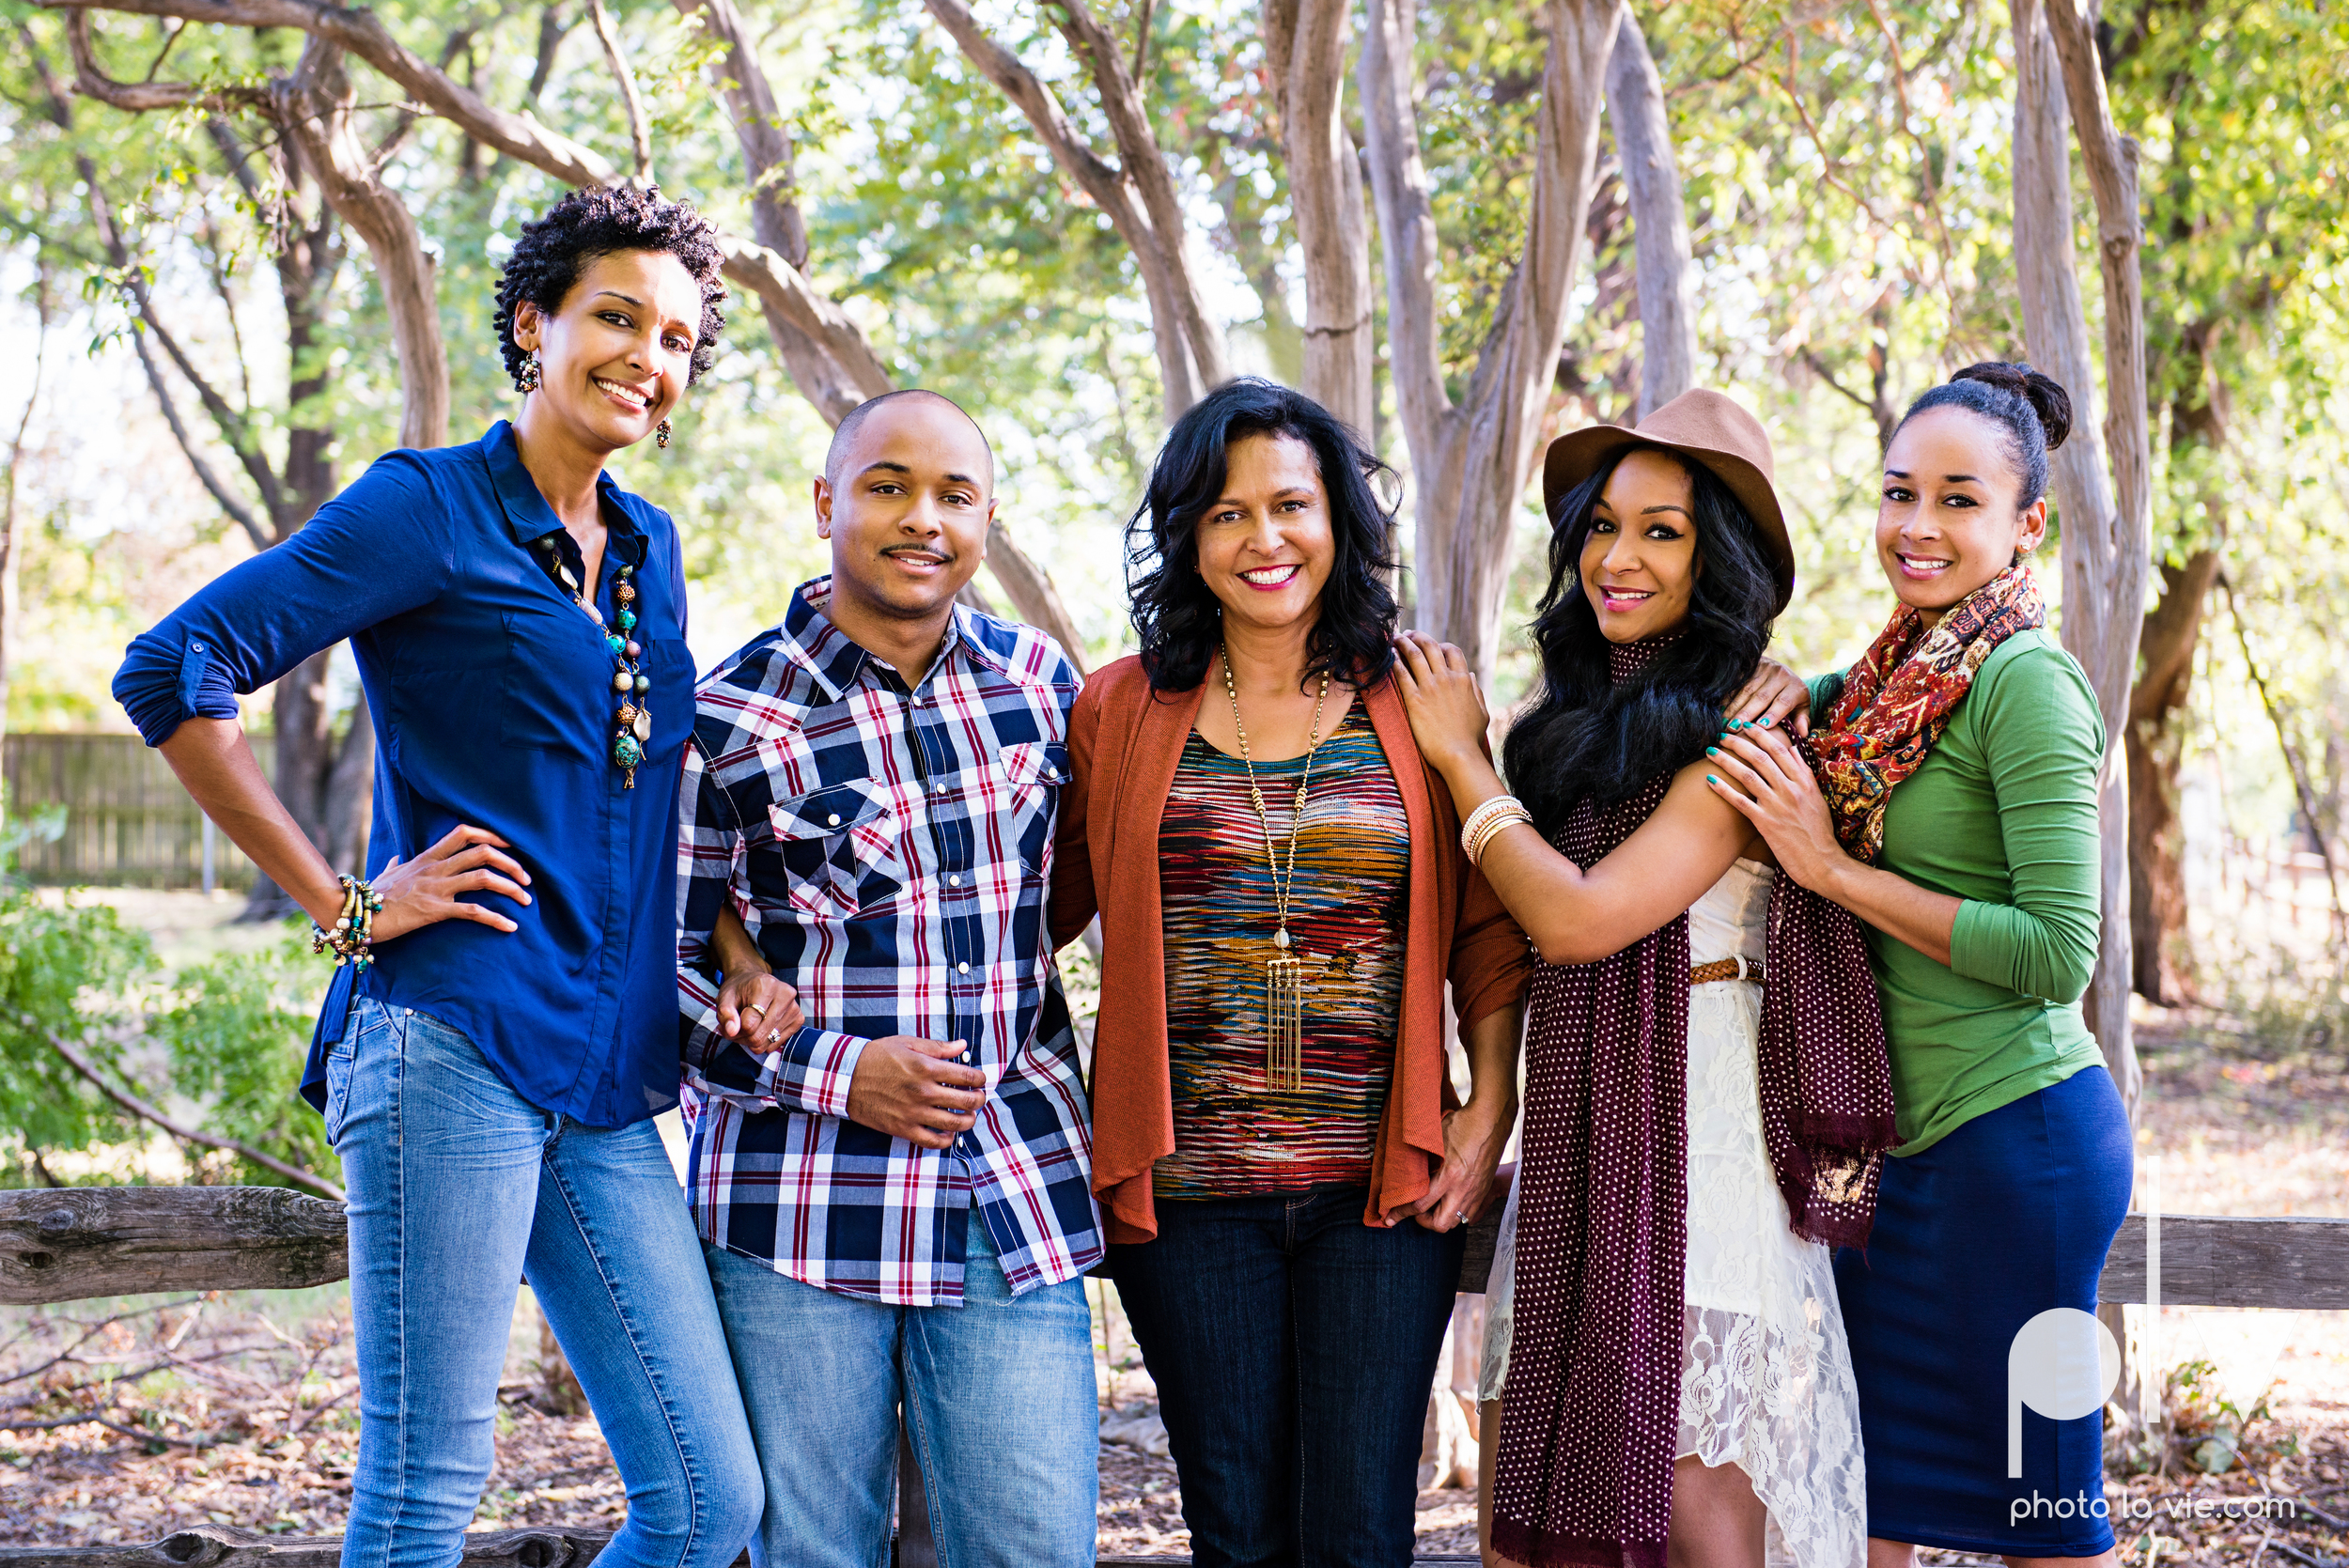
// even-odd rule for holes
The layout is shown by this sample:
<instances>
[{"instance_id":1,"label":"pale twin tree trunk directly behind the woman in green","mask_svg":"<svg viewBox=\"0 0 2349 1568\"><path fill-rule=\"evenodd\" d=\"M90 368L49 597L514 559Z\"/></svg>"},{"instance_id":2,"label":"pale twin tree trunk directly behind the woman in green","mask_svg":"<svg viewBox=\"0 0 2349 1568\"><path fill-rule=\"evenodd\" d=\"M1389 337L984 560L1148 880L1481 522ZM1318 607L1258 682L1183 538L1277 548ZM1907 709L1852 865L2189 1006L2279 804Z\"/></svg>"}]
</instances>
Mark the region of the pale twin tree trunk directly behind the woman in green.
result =
<instances>
[{"instance_id":1,"label":"pale twin tree trunk directly behind the woman in green","mask_svg":"<svg viewBox=\"0 0 2349 1568\"><path fill-rule=\"evenodd\" d=\"M2018 0L2015 23L2015 265L2032 359L2072 394L2074 439L2053 453L2055 505L2062 519L2062 643L2088 671L2105 718L2107 753L2098 779L2102 850L2102 922L2086 1019L2138 1120L2142 1070L2128 1028L2128 690L2145 617L2152 559L2149 455L2145 420L2145 307L2138 279L2135 150L2112 127L2095 40L2072 0ZM2112 453L2107 488L2093 408L2095 373L2079 303L2072 251L2072 183L2065 117L2079 124L2098 207L2098 263L2105 275L2102 446Z\"/></svg>"}]
</instances>

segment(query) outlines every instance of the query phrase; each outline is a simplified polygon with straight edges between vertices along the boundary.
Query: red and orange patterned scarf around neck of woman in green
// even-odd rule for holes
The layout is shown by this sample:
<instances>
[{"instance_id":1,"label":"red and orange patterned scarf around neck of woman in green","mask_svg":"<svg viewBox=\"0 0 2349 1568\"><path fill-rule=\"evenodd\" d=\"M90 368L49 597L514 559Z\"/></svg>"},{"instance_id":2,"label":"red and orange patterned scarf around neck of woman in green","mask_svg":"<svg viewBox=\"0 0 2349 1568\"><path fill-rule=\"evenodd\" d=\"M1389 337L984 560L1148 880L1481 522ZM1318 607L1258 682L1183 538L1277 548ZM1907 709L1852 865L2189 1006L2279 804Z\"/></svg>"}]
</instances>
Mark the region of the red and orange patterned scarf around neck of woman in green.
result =
<instances>
[{"instance_id":1,"label":"red and orange patterned scarf around neck of woman in green","mask_svg":"<svg viewBox=\"0 0 2349 1568\"><path fill-rule=\"evenodd\" d=\"M1851 854L1877 864L1893 784L1924 768L1983 660L2015 631L2044 624L2039 580L2020 563L1950 606L1931 631L1917 610L1893 610L1811 737L1818 791Z\"/></svg>"}]
</instances>

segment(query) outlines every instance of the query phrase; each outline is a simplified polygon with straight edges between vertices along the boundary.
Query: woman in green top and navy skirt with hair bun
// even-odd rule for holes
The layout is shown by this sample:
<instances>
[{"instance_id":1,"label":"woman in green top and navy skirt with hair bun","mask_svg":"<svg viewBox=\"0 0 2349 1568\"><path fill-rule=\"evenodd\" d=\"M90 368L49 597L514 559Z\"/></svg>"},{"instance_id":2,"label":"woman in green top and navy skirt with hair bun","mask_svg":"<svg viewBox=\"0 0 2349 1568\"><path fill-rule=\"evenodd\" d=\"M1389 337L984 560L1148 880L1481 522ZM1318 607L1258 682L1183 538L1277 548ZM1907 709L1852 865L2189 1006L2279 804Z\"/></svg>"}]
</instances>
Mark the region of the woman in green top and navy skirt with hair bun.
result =
<instances>
[{"instance_id":1,"label":"woman in green top and navy skirt with hair bun","mask_svg":"<svg viewBox=\"0 0 2349 1568\"><path fill-rule=\"evenodd\" d=\"M1884 453L1877 554L1900 608L1813 699L1818 779L1736 725L1712 786L1785 876L1870 927L1900 1148L1865 1253L1837 1256L1867 1455L1870 1568L1917 1547L2109 1563L2102 1430L2011 1378L2037 1324L2095 1366L2095 1282L2128 1209L2121 1096L2079 1014L2098 939L2105 725L2027 566L2072 404L1978 364Z\"/></svg>"}]
</instances>

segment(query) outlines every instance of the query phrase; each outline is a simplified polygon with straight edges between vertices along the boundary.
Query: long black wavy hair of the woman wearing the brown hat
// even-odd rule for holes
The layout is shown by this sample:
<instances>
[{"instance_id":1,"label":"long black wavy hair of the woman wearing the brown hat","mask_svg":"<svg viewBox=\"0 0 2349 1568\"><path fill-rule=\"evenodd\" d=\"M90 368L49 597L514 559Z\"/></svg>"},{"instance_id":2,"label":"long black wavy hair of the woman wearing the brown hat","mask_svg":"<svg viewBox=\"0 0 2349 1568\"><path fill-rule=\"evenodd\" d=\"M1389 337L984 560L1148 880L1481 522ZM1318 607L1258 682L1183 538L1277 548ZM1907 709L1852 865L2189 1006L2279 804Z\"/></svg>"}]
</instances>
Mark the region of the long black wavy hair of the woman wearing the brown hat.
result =
<instances>
[{"instance_id":1,"label":"long black wavy hair of the woman wearing the brown hat","mask_svg":"<svg viewBox=\"0 0 2349 1568\"><path fill-rule=\"evenodd\" d=\"M1637 446L1626 451L1642 451ZM1663 448L1647 448L1663 451ZM1510 789L1548 838L1583 798L1614 805L1694 763L1722 732L1729 697L1769 648L1778 580L1752 514L1701 462L1675 460L1696 488L1696 584L1682 636L1616 685L1597 610L1583 594L1590 509L1626 453L1567 491L1550 514L1550 584L1534 615L1541 695L1501 744Z\"/></svg>"}]
</instances>

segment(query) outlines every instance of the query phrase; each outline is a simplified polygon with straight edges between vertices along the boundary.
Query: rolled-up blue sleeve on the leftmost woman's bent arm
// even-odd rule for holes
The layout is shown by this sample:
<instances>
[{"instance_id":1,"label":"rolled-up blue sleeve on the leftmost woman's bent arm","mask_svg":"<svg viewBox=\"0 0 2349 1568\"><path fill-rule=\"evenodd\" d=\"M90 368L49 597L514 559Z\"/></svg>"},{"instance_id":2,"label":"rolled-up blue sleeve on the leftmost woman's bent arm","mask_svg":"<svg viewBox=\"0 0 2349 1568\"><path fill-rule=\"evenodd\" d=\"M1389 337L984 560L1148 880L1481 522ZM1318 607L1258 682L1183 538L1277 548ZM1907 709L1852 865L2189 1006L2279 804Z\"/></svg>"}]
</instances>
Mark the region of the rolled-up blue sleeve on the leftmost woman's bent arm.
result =
<instances>
[{"instance_id":1,"label":"rolled-up blue sleeve on the leftmost woman's bent arm","mask_svg":"<svg viewBox=\"0 0 2349 1568\"><path fill-rule=\"evenodd\" d=\"M188 718L235 718L237 695L439 594L453 570L446 516L418 455L385 453L291 540L132 638L115 702L150 746Z\"/></svg>"}]
</instances>

